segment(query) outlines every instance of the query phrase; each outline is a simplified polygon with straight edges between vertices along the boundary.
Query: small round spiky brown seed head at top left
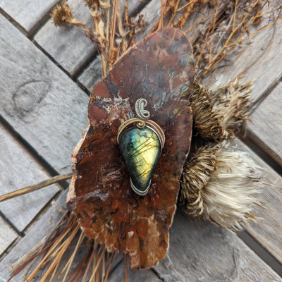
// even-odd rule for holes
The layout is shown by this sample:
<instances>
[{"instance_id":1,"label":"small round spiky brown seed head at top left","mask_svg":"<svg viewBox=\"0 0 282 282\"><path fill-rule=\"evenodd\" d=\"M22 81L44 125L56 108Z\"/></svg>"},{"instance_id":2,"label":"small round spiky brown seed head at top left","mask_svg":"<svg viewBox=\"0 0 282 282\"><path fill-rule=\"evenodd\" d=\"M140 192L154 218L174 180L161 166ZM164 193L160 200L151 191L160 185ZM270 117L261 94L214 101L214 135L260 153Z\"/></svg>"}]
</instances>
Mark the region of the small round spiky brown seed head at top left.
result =
<instances>
[{"instance_id":1,"label":"small round spiky brown seed head at top left","mask_svg":"<svg viewBox=\"0 0 282 282\"><path fill-rule=\"evenodd\" d=\"M61 4L56 5L52 12L51 18L53 19L54 25L57 26L68 26L73 20L73 12L70 6L66 3L66 0L61 1Z\"/></svg>"}]
</instances>

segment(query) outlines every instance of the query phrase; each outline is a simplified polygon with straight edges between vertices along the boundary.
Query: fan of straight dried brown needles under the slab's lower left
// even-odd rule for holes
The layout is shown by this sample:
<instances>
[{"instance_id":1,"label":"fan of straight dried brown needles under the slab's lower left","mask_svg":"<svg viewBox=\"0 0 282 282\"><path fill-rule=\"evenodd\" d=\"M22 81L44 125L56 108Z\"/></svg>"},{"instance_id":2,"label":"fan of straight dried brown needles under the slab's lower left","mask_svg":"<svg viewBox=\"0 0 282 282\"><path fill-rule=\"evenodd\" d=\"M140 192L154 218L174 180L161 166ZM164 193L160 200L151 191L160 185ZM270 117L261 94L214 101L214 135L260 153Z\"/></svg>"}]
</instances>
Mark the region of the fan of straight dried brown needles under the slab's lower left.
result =
<instances>
[{"instance_id":1,"label":"fan of straight dried brown needles under the slab's lower left","mask_svg":"<svg viewBox=\"0 0 282 282\"><path fill-rule=\"evenodd\" d=\"M72 247L72 245L75 245L75 247ZM78 254L78 249L82 248L86 250L85 256L71 273L71 266L75 256ZM71 255L69 250L71 250ZM30 271L31 273L25 274L27 276L25 277L26 281L32 281L39 269L46 267L47 270L40 281L53 281L54 278L61 278L61 276L63 278L60 281L67 281L67 278L68 281L86 281L88 275L90 278L87 281L94 282L97 281L95 280L96 274L102 270L103 281L106 282L114 260L114 253L107 253L102 245L86 238L85 234L80 230L76 217L70 212L63 216L47 238L44 238L30 254L20 259L20 262L13 266L14 273L11 278L40 255L43 255L43 257L35 269ZM105 268L106 257L110 259L107 271ZM58 273L58 266L63 260L64 267L61 273Z\"/></svg>"}]
</instances>

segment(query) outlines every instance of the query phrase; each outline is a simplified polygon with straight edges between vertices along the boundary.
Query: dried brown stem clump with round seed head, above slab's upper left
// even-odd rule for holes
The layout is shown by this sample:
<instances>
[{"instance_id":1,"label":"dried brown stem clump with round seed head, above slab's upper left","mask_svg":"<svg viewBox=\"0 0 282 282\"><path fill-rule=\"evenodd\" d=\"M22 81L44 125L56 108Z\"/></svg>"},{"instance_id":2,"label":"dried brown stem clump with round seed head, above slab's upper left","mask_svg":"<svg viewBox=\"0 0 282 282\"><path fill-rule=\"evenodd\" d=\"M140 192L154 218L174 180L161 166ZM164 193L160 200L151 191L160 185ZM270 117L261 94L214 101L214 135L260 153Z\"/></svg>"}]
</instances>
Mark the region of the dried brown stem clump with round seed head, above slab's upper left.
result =
<instances>
[{"instance_id":1,"label":"dried brown stem clump with round seed head, above slab's upper left","mask_svg":"<svg viewBox=\"0 0 282 282\"><path fill-rule=\"evenodd\" d=\"M65 0L57 5L52 13L54 24L67 26L76 25L85 31L85 35L96 45L102 60L102 76L106 76L116 59L121 56L134 42L145 20L143 16L136 19L128 17L128 1L120 11L118 0L83 0L91 10L94 26L87 27L85 22L73 18L73 12Z\"/></svg>"}]
</instances>

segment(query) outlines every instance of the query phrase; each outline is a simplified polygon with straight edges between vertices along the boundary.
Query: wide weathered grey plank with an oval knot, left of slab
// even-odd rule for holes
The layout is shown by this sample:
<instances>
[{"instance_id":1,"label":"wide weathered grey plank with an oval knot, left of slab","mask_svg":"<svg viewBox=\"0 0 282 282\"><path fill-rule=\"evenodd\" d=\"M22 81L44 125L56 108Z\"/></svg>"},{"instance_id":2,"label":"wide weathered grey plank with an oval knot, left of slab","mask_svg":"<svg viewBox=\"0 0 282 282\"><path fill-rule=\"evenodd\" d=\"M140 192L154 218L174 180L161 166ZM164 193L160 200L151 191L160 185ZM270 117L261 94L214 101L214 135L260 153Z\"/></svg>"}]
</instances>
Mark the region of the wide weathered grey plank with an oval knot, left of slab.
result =
<instances>
[{"instance_id":1,"label":"wide weathered grey plank with an oval knot, left of slab","mask_svg":"<svg viewBox=\"0 0 282 282\"><path fill-rule=\"evenodd\" d=\"M0 16L0 111L56 170L87 124L88 97L16 27Z\"/></svg>"}]
</instances>

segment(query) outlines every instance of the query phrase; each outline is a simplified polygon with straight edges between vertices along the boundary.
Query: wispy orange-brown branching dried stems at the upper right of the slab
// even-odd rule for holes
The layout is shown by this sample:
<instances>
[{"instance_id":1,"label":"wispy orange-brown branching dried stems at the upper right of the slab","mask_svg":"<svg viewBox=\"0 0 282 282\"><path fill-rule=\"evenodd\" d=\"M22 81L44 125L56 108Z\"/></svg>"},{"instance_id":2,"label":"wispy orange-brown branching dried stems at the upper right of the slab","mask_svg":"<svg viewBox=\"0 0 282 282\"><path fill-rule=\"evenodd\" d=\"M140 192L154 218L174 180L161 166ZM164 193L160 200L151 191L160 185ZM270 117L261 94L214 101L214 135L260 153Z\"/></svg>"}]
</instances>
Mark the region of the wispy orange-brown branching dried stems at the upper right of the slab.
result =
<instances>
[{"instance_id":1,"label":"wispy orange-brown branching dried stems at the upper right of the slab","mask_svg":"<svg viewBox=\"0 0 282 282\"><path fill-rule=\"evenodd\" d=\"M166 0L154 26L178 27L192 41L198 78L226 66L242 42L281 19L278 1Z\"/></svg>"}]
</instances>

